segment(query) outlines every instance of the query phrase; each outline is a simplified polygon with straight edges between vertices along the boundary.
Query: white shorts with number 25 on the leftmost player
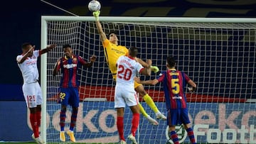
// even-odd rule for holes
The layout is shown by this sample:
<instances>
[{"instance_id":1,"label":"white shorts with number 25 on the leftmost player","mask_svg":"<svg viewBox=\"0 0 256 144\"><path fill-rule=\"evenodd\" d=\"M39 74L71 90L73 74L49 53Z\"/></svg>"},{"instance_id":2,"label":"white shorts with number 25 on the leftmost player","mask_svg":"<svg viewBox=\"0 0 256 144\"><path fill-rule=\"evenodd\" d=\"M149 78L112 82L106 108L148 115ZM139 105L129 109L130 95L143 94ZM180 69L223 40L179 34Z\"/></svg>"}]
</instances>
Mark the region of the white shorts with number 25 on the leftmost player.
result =
<instances>
[{"instance_id":1,"label":"white shorts with number 25 on the leftmost player","mask_svg":"<svg viewBox=\"0 0 256 144\"><path fill-rule=\"evenodd\" d=\"M22 91L28 108L43 104L42 90L38 82L23 84Z\"/></svg>"}]
</instances>

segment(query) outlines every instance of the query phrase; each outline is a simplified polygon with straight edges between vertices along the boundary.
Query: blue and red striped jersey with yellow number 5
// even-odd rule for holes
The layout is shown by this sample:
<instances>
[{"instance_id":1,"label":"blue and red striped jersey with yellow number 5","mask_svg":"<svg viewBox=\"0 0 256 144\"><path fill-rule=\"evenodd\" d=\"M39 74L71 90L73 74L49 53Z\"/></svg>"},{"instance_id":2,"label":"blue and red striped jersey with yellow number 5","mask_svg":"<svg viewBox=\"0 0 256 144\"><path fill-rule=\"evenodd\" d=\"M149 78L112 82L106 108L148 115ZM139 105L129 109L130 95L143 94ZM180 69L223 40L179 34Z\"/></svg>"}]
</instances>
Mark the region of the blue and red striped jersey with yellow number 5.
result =
<instances>
[{"instance_id":1,"label":"blue and red striped jersey with yellow number 5","mask_svg":"<svg viewBox=\"0 0 256 144\"><path fill-rule=\"evenodd\" d=\"M158 78L164 87L167 109L186 108L186 84L190 78L184 72L171 69L163 72Z\"/></svg>"}]
</instances>

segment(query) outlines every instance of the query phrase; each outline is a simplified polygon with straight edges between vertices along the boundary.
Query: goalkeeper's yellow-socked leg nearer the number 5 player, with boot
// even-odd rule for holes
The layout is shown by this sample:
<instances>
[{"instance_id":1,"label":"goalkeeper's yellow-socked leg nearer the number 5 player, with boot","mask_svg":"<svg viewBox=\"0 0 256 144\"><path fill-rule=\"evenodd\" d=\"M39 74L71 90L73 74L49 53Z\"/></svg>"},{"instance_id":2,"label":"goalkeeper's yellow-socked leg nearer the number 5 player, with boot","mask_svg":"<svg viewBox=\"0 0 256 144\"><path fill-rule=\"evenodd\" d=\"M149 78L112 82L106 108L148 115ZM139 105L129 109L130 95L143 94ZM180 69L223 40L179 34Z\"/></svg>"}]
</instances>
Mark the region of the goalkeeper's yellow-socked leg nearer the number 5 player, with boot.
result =
<instances>
[{"instance_id":1,"label":"goalkeeper's yellow-socked leg nearer the number 5 player, with boot","mask_svg":"<svg viewBox=\"0 0 256 144\"><path fill-rule=\"evenodd\" d=\"M149 96L149 94L146 93L146 91L145 91L144 87L142 86L142 84L137 86L135 88L135 90L136 90L136 92L139 92L139 95L143 96L143 99L144 99L144 101L146 101L146 104L154 111L154 113L156 113L156 118L160 118L162 120L166 120L166 116L164 116L164 114L159 111L159 109L157 108L156 104L151 99L151 96Z\"/></svg>"}]
</instances>

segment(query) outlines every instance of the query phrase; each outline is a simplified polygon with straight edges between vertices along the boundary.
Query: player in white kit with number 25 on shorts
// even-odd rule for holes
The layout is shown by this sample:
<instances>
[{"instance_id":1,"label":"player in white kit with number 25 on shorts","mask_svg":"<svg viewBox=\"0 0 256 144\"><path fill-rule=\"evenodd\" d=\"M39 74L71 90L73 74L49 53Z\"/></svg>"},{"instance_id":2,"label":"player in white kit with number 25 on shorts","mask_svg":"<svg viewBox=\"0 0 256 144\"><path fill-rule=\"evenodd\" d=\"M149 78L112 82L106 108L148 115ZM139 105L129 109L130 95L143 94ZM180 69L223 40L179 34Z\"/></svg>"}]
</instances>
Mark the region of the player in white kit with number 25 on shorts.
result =
<instances>
[{"instance_id":1,"label":"player in white kit with number 25 on shorts","mask_svg":"<svg viewBox=\"0 0 256 144\"><path fill-rule=\"evenodd\" d=\"M23 43L22 54L16 57L18 67L23 77L23 96L30 111L30 121L33 129L32 138L36 143L43 143L39 136L39 126L41 125L41 104L43 102L41 87L38 83L37 59L43 53L49 52L56 45L48 45L43 50L34 50L35 45Z\"/></svg>"}]
</instances>

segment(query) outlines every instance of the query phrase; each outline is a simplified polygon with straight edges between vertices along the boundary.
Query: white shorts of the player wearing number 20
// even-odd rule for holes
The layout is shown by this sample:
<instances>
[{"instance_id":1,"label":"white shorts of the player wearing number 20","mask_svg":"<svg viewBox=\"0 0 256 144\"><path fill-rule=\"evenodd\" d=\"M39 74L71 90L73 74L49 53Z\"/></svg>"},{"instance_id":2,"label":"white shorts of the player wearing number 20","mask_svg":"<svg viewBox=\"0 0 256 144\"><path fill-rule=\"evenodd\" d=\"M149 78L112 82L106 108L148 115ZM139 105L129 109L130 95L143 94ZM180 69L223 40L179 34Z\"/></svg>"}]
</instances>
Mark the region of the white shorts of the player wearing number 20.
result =
<instances>
[{"instance_id":1,"label":"white shorts of the player wearing number 20","mask_svg":"<svg viewBox=\"0 0 256 144\"><path fill-rule=\"evenodd\" d=\"M125 87L115 87L114 108L124 108L126 104L127 106L136 106L139 104L134 87L131 89L125 89Z\"/></svg>"}]
</instances>

